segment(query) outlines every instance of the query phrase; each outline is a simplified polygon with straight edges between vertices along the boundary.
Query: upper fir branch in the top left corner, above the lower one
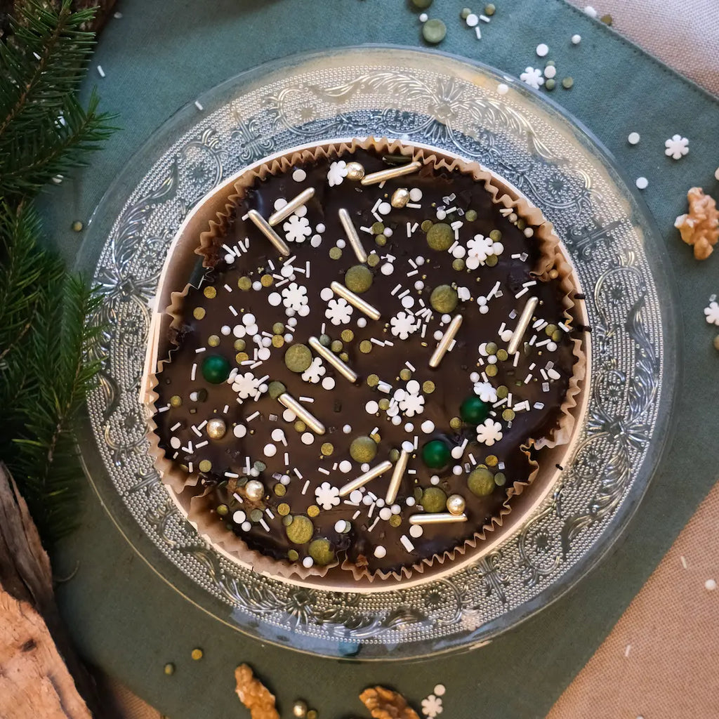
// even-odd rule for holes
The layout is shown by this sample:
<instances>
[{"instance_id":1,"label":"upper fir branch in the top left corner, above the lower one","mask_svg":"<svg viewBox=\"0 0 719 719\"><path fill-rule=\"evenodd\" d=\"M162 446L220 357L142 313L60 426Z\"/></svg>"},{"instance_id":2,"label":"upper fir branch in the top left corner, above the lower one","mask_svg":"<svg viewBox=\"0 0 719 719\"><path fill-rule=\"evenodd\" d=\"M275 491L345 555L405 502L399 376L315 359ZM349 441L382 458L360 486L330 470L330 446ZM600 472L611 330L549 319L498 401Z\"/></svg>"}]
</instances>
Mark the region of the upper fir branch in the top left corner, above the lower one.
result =
<instances>
[{"instance_id":1,"label":"upper fir branch in the top left corner, above the lower one","mask_svg":"<svg viewBox=\"0 0 719 719\"><path fill-rule=\"evenodd\" d=\"M94 91L86 109L75 98L93 47L93 33L79 28L93 12L28 0L14 42L0 43L0 197L33 194L83 165L114 129Z\"/></svg>"}]
</instances>

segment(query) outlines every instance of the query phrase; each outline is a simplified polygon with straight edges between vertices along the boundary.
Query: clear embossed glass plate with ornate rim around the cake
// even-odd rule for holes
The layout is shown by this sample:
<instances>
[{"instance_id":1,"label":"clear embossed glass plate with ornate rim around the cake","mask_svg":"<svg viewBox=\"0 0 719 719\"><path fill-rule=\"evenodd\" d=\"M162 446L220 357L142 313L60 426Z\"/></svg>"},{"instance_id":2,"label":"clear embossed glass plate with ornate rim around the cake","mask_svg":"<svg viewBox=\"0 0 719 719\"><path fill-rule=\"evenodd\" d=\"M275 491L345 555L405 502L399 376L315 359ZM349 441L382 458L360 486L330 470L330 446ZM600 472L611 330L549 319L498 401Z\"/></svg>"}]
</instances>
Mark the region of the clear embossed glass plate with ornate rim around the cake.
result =
<instances>
[{"instance_id":1,"label":"clear embossed glass plate with ornate rim around the cake","mask_svg":"<svg viewBox=\"0 0 719 719\"><path fill-rule=\"evenodd\" d=\"M592 368L569 462L519 531L429 585L359 594L261 577L208 546L152 467L137 390L149 306L188 211L265 155L370 134L476 160L544 211L587 294ZM251 636L359 659L469 649L571 587L613 544L646 490L671 414L677 352L672 288L655 238L635 193L590 135L490 68L362 47L239 75L160 128L93 216L81 255L104 293L96 320L108 329L95 348L106 360L82 442L88 477L160 576Z\"/></svg>"}]
</instances>

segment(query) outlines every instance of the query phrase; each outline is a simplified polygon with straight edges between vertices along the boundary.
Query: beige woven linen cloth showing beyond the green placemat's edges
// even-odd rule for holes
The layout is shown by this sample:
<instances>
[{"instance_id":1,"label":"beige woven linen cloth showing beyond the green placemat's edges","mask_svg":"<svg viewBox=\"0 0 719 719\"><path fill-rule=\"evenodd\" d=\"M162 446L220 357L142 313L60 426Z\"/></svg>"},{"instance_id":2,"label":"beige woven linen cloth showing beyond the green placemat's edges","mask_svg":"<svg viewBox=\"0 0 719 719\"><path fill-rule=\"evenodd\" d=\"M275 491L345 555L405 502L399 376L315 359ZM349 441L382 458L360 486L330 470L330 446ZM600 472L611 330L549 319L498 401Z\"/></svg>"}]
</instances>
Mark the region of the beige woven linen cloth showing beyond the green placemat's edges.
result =
<instances>
[{"instance_id":1,"label":"beige woven linen cloth showing beyond the green placemat's edges","mask_svg":"<svg viewBox=\"0 0 719 719\"><path fill-rule=\"evenodd\" d=\"M618 32L719 94L719 0L592 4ZM719 582L718 548L716 485L547 719L719 718L719 589L705 587ZM161 719L122 685L109 690L120 716Z\"/></svg>"}]
</instances>

